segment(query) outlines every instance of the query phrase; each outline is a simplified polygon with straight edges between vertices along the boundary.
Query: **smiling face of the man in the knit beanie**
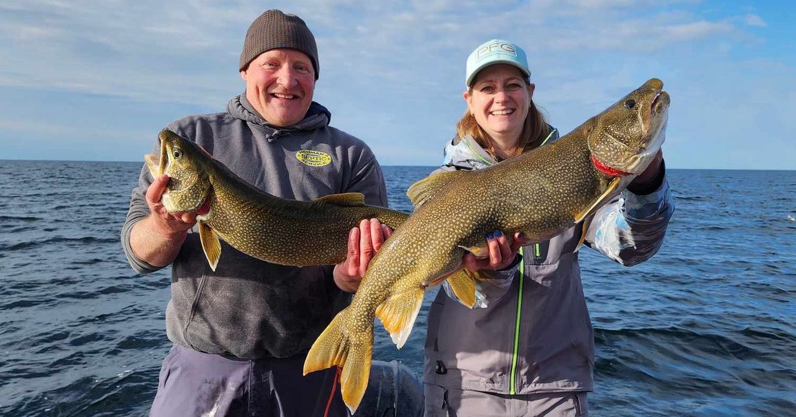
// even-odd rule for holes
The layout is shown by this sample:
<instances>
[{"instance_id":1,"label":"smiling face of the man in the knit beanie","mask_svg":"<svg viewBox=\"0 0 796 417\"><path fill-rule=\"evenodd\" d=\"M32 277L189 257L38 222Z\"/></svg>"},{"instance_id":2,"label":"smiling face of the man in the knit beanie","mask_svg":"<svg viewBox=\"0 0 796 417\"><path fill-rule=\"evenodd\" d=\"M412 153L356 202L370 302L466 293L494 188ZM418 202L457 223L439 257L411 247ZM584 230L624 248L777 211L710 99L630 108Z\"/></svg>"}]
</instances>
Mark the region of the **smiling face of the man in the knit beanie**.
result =
<instances>
[{"instance_id":1,"label":"smiling face of the man in the knit beanie","mask_svg":"<svg viewBox=\"0 0 796 417\"><path fill-rule=\"evenodd\" d=\"M271 49L252 60L240 76L246 82L246 98L268 123L287 127L304 119L315 90L312 60L305 53Z\"/></svg>"}]
</instances>

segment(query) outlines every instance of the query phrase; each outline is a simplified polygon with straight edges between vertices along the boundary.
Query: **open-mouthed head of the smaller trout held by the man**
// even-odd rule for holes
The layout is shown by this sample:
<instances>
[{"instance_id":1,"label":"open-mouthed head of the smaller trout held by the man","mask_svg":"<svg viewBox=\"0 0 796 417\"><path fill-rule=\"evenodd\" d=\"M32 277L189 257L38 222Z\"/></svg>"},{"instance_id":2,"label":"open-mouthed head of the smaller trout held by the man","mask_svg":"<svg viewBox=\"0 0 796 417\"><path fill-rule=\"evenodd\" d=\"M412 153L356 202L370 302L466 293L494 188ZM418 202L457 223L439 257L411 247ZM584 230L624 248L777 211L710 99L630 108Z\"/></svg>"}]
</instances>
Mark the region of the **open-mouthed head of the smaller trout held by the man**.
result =
<instances>
[{"instance_id":1,"label":"open-mouthed head of the smaller trout held by the man","mask_svg":"<svg viewBox=\"0 0 796 417\"><path fill-rule=\"evenodd\" d=\"M209 196L213 157L201 146L173 131L158 135L160 154L144 157L152 177L169 177L161 202L168 212L194 212Z\"/></svg>"}]
</instances>

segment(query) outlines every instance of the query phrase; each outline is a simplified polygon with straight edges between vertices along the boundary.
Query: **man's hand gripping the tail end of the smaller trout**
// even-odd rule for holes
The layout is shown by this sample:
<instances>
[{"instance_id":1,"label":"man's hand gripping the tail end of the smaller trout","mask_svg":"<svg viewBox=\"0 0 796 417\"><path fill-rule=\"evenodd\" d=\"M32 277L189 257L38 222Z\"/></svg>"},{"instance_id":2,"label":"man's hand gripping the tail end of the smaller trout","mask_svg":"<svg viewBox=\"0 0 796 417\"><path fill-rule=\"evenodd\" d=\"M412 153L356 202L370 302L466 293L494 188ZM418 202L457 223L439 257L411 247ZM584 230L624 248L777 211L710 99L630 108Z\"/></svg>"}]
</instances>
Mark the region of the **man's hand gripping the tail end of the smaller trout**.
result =
<instances>
[{"instance_id":1,"label":"man's hand gripping the tail end of the smaller trout","mask_svg":"<svg viewBox=\"0 0 796 417\"><path fill-rule=\"evenodd\" d=\"M343 263L334 266L334 283L341 290L353 293L359 288L370 260L392 235L392 229L378 219L362 220L349 232L348 255Z\"/></svg>"}]
</instances>

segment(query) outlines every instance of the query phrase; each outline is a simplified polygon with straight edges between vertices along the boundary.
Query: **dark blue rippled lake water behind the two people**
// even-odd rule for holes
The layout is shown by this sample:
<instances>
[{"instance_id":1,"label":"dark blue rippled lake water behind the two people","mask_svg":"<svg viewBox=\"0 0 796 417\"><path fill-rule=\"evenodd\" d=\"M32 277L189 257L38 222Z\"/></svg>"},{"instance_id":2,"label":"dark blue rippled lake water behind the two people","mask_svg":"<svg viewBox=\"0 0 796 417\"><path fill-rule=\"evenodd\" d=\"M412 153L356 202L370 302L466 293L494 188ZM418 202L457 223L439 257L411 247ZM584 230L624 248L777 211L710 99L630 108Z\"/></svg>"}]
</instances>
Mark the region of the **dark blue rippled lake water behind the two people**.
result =
<instances>
[{"instance_id":1,"label":"dark blue rippled lake water behind the two people","mask_svg":"<svg viewBox=\"0 0 796 417\"><path fill-rule=\"evenodd\" d=\"M0 161L0 415L146 415L170 347L169 271L119 244L137 162ZM430 167L386 166L392 208ZM669 170L677 212L650 261L587 247L591 415L796 415L796 171ZM421 372L427 294L395 349Z\"/></svg>"}]
</instances>

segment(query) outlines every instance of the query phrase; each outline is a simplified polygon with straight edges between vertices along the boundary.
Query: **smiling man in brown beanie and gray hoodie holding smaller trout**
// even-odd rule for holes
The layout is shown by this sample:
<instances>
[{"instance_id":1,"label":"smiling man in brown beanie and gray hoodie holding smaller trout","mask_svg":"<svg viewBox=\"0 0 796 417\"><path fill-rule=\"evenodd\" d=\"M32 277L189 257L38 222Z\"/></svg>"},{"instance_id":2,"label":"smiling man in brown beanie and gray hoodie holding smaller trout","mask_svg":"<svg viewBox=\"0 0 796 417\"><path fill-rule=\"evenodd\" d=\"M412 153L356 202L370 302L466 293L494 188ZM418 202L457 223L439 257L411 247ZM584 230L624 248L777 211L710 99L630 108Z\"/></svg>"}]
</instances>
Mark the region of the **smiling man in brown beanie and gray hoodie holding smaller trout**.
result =
<instances>
[{"instance_id":1,"label":"smiling man in brown beanie and gray hoodie holding smaller trout","mask_svg":"<svg viewBox=\"0 0 796 417\"><path fill-rule=\"evenodd\" d=\"M386 206L373 152L330 127L330 111L312 101L318 64L305 22L267 10L252 22L240 54L244 94L223 113L190 115L167 128L267 193L307 201L358 192ZM302 151L330 162L310 166L297 158ZM390 230L363 220L349 234L348 258L335 267L265 263L222 243L212 271L194 232L196 213L171 215L161 204L168 181L142 170L122 229L135 271L172 265L166 333L174 346L150 415L347 415L334 368L302 376L302 365Z\"/></svg>"}]
</instances>

